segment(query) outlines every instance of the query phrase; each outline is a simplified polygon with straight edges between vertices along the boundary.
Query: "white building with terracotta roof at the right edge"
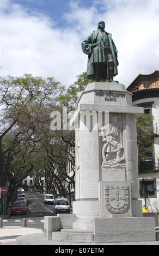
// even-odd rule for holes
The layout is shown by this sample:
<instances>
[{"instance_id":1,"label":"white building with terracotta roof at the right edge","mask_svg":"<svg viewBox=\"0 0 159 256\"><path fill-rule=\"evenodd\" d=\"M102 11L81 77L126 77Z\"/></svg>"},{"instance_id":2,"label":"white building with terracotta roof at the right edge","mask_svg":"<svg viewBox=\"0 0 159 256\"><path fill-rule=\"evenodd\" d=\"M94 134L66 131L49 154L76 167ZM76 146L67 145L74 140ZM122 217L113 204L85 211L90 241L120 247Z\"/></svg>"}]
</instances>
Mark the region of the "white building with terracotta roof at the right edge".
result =
<instances>
[{"instance_id":1,"label":"white building with terracotta roof at the right edge","mask_svg":"<svg viewBox=\"0 0 159 256\"><path fill-rule=\"evenodd\" d=\"M159 71L139 74L127 88L133 105L144 107L154 117L154 144L145 148L146 156L139 159L139 191L143 206L149 212L159 212Z\"/></svg>"}]
</instances>

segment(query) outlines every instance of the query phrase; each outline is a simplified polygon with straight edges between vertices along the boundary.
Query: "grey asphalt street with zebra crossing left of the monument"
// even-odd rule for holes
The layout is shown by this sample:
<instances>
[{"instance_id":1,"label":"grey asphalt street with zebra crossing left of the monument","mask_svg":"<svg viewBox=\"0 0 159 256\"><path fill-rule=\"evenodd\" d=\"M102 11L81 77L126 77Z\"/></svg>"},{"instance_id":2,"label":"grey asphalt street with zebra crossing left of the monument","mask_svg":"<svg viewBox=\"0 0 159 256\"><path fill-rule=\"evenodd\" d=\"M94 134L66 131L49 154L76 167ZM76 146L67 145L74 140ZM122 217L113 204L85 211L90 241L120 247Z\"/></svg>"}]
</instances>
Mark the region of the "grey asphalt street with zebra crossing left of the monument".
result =
<instances>
[{"instance_id":1,"label":"grey asphalt street with zebra crossing left of the monument","mask_svg":"<svg viewBox=\"0 0 159 256\"><path fill-rule=\"evenodd\" d=\"M56 216L53 207L44 204L44 196L38 192L26 192L28 200L27 215L10 216L3 220L3 227L22 226L23 218L27 219L28 228L40 228L44 231L44 216Z\"/></svg>"}]
</instances>

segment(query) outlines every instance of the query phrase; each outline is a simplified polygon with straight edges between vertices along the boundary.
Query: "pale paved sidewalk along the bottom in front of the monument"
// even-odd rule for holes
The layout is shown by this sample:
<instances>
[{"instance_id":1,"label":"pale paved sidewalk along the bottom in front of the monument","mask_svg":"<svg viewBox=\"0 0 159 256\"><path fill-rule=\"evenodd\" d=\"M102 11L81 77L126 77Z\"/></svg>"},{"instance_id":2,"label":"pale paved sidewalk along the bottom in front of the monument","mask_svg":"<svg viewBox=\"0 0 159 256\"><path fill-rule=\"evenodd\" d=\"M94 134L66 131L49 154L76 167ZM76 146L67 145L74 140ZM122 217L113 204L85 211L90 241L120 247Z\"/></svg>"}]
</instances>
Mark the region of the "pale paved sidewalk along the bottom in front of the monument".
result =
<instances>
[{"instance_id":1,"label":"pale paved sidewalk along the bottom in front of the monument","mask_svg":"<svg viewBox=\"0 0 159 256\"><path fill-rule=\"evenodd\" d=\"M159 245L159 241L123 243L68 243L47 240L41 229L22 227L0 228L0 245L54 245L54 246L106 246L106 245Z\"/></svg>"}]
</instances>

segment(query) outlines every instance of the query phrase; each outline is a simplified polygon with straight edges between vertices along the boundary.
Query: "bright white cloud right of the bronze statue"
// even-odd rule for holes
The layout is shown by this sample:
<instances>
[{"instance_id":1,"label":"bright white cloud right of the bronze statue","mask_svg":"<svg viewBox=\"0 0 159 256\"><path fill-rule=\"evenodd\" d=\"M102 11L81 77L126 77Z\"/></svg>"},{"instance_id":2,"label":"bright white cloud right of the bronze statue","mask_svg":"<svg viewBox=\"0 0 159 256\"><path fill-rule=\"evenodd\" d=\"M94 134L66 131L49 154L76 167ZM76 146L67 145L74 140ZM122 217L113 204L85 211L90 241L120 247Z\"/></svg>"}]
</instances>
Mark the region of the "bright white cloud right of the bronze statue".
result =
<instances>
[{"instance_id":1,"label":"bright white cloud right of the bronze statue","mask_svg":"<svg viewBox=\"0 0 159 256\"><path fill-rule=\"evenodd\" d=\"M116 0L114 3L105 18L118 48L117 79L127 87L139 74L158 69L159 2Z\"/></svg>"}]
</instances>

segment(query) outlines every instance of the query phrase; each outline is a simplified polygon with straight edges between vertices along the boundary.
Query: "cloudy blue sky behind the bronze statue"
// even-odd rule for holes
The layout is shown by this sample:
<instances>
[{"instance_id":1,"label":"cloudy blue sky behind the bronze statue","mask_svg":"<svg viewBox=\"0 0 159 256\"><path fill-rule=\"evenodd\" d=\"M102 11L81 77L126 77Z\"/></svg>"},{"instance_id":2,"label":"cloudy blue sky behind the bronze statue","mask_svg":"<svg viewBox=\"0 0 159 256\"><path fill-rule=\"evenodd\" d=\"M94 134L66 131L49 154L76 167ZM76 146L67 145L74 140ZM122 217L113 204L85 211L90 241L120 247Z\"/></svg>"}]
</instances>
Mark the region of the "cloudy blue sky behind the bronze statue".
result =
<instances>
[{"instance_id":1,"label":"cloudy blue sky behind the bronze statue","mask_svg":"<svg viewBox=\"0 0 159 256\"><path fill-rule=\"evenodd\" d=\"M158 0L0 0L1 76L54 77L70 86L87 70L82 41L105 21L126 88L159 70Z\"/></svg>"}]
</instances>

